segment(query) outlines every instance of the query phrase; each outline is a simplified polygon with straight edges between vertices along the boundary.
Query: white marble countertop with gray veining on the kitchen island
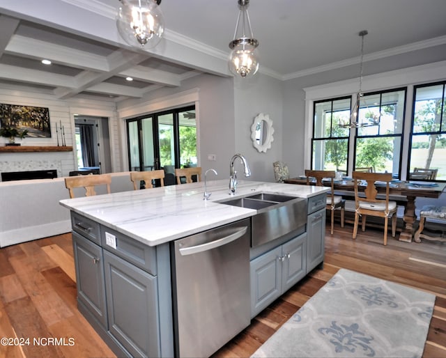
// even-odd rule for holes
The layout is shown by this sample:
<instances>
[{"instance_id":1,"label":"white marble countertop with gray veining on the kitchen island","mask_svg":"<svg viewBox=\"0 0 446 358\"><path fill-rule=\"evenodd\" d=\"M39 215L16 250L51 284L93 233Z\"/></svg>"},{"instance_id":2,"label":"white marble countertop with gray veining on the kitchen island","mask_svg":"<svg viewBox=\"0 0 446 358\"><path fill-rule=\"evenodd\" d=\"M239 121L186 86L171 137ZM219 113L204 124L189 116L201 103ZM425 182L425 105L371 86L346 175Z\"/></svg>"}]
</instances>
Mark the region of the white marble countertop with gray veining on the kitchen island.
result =
<instances>
[{"instance_id":1,"label":"white marble countertop with gray veining on the kitchen island","mask_svg":"<svg viewBox=\"0 0 446 358\"><path fill-rule=\"evenodd\" d=\"M61 200L61 205L124 235L156 246L256 214L217 201L259 192L309 198L330 188L239 180L236 195L229 195L228 180L208 180L212 195L203 200L204 183L169 185Z\"/></svg>"}]
</instances>

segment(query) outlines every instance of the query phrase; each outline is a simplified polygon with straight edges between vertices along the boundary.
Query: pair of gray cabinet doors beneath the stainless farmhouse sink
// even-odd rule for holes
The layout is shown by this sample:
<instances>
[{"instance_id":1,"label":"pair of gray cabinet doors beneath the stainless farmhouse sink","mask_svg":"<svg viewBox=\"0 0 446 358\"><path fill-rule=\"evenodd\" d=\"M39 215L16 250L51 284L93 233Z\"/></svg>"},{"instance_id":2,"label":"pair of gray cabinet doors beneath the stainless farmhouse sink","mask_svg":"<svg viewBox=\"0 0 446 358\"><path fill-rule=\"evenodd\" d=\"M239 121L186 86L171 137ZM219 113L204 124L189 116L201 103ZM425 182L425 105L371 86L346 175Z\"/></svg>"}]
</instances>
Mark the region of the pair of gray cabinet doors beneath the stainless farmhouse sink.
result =
<instances>
[{"instance_id":1,"label":"pair of gray cabinet doors beneath the stainless farmhouse sink","mask_svg":"<svg viewBox=\"0 0 446 358\"><path fill-rule=\"evenodd\" d=\"M251 318L305 277L304 233L251 261Z\"/></svg>"}]
</instances>

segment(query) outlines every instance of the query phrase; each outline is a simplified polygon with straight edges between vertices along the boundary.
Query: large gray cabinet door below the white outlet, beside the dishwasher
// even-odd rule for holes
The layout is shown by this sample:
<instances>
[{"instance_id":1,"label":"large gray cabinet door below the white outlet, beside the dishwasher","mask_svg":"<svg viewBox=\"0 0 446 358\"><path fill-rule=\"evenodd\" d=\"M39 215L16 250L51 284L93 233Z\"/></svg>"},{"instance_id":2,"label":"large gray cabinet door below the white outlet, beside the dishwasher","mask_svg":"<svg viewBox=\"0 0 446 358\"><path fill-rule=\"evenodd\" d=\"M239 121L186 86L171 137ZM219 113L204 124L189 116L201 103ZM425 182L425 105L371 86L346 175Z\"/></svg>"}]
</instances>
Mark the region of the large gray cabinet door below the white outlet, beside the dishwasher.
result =
<instances>
[{"instance_id":1,"label":"large gray cabinet door below the white outlet, beside the dishwasher","mask_svg":"<svg viewBox=\"0 0 446 358\"><path fill-rule=\"evenodd\" d=\"M132 357L160 357L157 278L104 251L109 332Z\"/></svg>"}]
</instances>

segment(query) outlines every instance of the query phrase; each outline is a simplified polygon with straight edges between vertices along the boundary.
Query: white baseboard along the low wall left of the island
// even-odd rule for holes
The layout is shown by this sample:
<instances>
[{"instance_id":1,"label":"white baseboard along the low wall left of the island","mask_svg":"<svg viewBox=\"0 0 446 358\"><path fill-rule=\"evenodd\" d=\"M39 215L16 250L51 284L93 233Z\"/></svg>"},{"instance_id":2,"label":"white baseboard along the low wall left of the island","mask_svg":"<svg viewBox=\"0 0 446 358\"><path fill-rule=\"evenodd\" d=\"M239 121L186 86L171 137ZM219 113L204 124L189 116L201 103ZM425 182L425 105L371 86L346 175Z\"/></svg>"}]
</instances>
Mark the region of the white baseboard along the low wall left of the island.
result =
<instances>
[{"instance_id":1,"label":"white baseboard along the low wall left of the island","mask_svg":"<svg viewBox=\"0 0 446 358\"><path fill-rule=\"evenodd\" d=\"M71 221L63 220L36 226L26 226L0 233L0 247L20 244L21 242L47 238L53 235L69 233L71 231Z\"/></svg>"}]
</instances>

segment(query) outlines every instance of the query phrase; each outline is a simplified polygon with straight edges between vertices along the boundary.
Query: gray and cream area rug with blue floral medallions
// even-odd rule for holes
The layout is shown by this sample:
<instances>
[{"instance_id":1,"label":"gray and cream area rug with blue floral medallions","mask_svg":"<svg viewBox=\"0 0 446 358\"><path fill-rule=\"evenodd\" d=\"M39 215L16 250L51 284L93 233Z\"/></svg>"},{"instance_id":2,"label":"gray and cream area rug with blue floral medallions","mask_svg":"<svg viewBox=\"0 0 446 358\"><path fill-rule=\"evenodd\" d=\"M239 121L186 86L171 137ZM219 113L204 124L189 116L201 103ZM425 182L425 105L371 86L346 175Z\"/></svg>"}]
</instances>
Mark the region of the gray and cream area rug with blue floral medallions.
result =
<instances>
[{"instance_id":1,"label":"gray and cream area rug with blue floral medallions","mask_svg":"<svg viewBox=\"0 0 446 358\"><path fill-rule=\"evenodd\" d=\"M341 269L252 357L422 357L435 295Z\"/></svg>"}]
</instances>

